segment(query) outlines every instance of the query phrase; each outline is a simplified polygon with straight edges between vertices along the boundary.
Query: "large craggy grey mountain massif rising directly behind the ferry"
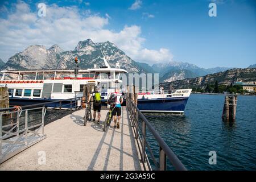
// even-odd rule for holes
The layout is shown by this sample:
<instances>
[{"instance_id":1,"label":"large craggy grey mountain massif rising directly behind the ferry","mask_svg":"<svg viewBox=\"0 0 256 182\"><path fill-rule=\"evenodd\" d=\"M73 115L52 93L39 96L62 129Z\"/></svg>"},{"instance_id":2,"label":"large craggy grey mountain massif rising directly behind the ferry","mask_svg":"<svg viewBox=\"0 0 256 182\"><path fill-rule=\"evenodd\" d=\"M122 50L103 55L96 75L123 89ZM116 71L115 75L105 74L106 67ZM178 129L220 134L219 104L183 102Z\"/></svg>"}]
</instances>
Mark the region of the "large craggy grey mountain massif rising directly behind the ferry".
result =
<instances>
[{"instance_id":1,"label":"large craggy grey mountain massif rising directly behind the ferry","mask_svg":"<svg viewBox=\"0 0 256 182\"><path fill-rule=\"evenodd\" d=\"M104 66L101 51L105 53L110 66L115 67L119 62L121 68L126 68L128 72L143 72L134 60L113 43L93 43L90 39L80 41L72 51L64 51L57 45L48 49L45 46L29 46L11 56L2 69L73 69L76 56L81 69L92 68L94 64Z\"/></svg>"}]
</instances>

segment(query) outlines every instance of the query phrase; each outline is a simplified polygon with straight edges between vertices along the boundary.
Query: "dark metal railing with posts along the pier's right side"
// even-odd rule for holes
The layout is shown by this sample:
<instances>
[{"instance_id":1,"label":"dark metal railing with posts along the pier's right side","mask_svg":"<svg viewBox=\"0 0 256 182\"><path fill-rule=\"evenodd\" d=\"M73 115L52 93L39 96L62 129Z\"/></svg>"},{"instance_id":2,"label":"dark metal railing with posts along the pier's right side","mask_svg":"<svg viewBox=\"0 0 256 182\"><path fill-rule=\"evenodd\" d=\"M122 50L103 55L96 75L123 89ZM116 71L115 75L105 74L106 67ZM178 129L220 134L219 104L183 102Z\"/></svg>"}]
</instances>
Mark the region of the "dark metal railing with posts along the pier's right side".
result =
<instances>
[{"instance_id":1,"label":"dark metal railing with posts along the pier's right side","mask_svg":"<svg viewBox=\"0 0 256 182\"><path fill-rule=\"evenodd\" d=\"M163 138L160 137L159 133L152 127L150 122L144 117L144 115L141 113L141 111L138 109L137 105L135 105L134 101L131 100L131 98L126 97L126 107L129 111L130 119L133 125L133 130L135 133L135 139L138 143L139 153L141 155L141 161L143 164L143 168L146 170L146 165L148 169L152 170L150 161L148 160L147 154L146 154L146 147L147 150L150 152L150 156L152 158L152 162L155 164L158 170L164 171L167 170L167 162L166 158L170 160L172 165L176 170L187 170L184 165L180 162L180 160L177 158L177 156L174 154L174 152L170 149L170 147L164 142ZM142 126L139 126L139 119L141 118ZM159 161L154 156L154 153L147 142L146 139L146 128L150 133L153 135L155 141L159 144ZM141 133L141 134L140 134Z\"/></svg>"}]
</instances>

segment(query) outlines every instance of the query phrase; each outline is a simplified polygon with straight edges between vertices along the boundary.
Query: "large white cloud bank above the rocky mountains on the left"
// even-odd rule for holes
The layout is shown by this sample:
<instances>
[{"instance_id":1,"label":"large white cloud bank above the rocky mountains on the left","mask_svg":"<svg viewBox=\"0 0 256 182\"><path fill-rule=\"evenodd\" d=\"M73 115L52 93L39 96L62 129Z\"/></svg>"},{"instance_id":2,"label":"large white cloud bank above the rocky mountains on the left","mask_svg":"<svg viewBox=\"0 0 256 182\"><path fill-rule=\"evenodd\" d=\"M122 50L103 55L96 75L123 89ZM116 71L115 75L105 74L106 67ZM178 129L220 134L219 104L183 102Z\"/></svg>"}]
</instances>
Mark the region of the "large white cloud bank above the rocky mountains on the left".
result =
<instances>
[{"instance_id":1,"label":"large white cloud bank above the rocky mountains on the left","mask_svg":"<svg viewBox=\"0 0 256 182\"><path fill-rule=\"evenodd\" d=\"M93 15L90 11L81 13L76 7L47 5L46 17L38 17L29 5L19 1L7 18L0 18L0 58L9 59L15 53L34 44L47 48L58 44L64 50L73 50L80 40L93 42L109 40L128 56L137 61L155 63L170 61L172 54L168 49L147 49L142 45L146 39L141 37L141 27L125 26L119 32L108 30L110 16ZM10 12L10 11L9 11Z\"/></svg>"}]
</instances>

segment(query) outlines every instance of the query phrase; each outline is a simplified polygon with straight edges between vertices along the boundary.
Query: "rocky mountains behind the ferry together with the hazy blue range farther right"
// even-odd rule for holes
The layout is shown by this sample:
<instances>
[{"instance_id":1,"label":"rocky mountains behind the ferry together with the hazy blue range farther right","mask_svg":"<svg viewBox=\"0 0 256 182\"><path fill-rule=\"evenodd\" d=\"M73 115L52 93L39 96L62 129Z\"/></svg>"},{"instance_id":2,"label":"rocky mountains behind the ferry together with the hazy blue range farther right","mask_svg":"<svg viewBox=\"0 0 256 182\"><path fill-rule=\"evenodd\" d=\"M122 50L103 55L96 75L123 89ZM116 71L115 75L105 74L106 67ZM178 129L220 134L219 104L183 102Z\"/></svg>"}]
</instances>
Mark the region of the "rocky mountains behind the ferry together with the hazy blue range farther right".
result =
<instances>
[{"instance_id":1,"label":"rocky mountains behind the ferry together with the hazy blue range farther right","mask_svg":"<svg viewBox=\"0 0 256 182\"><path fill-rule=\"evenodd\" d=\"M94 43L91 39L80 41L71 51L64 51L56 44L48 49L39 45L28 46L24 51L11 56L4 65L0 61L0 69L74 69L76 56L79 59L79 67L82 69L92 68L94 64L104 66L104 61L101 59L102 52L111 67L115 67L119 63L121 68L126 69L129 73L159 73L160 82L195 78L232 69L225 67L205 69L197 67L195 64L177 61L151 66L134 61L109 41Z\"/></svg>"}]
</instances>

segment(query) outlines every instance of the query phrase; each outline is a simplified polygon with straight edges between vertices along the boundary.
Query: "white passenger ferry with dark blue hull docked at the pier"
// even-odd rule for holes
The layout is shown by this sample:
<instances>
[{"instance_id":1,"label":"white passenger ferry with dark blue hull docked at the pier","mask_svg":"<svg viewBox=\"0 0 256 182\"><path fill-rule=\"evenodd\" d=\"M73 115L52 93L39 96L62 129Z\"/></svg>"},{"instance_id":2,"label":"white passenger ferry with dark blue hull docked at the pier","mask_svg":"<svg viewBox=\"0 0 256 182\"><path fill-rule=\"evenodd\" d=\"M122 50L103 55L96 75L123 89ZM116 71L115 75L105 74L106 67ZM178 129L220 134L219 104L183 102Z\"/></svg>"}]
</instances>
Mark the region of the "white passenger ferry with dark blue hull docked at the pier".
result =
<instances>
[{"instance_id":1,"label":"white passenger ferry with dark blue hull docked at the pier","mask_svg":"<svg viewBox=\"0 0 256 182\"><path fill-rule=\"evenodd\" d=\"M67 100L65 102L69 104L69 99L82 97L84 85L98 86L104 102L117 84L122 83L121 74L127 73L125 69L110 68L108 62L104 61L106 67L79 69L77 77L75 70L1 71L0 86L9 89L10 105L23 106L58 100ZM191 90L139 92L138 108L143 112L183 113ZM55 102L47 106L57 105Z\"/></svg>"}]
</instances>

